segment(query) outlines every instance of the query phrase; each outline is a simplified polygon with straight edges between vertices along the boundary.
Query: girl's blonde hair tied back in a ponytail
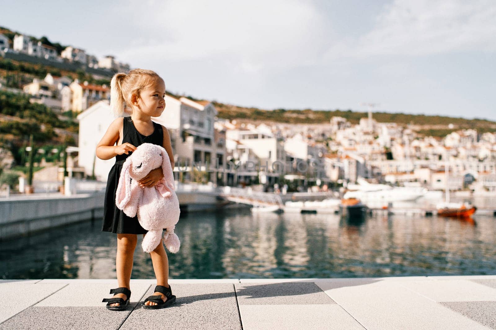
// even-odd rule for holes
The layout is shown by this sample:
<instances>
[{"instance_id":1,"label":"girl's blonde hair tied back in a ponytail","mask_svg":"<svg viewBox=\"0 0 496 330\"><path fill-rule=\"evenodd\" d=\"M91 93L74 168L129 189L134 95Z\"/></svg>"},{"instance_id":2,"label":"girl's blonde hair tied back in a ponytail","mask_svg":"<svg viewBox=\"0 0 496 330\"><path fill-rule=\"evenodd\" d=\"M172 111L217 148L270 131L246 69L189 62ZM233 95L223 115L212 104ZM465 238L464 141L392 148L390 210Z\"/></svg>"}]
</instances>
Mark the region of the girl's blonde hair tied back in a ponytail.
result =
<instances>
[{"instance_id":1,"label":"girl's blonde hair tied back in a ponytail","mask_svg":"<svg viewBox=\"0 0 496 330\"><path fill-rule=\"evenodd\" d=\"M148 86L156 83L160 76L145 69L133 69L129 73L116 73L110 81L110 109L116 117L122 117L127 106L131 104L133 94L139 97L139 93Z\"/></svg>"}]
</instances>

